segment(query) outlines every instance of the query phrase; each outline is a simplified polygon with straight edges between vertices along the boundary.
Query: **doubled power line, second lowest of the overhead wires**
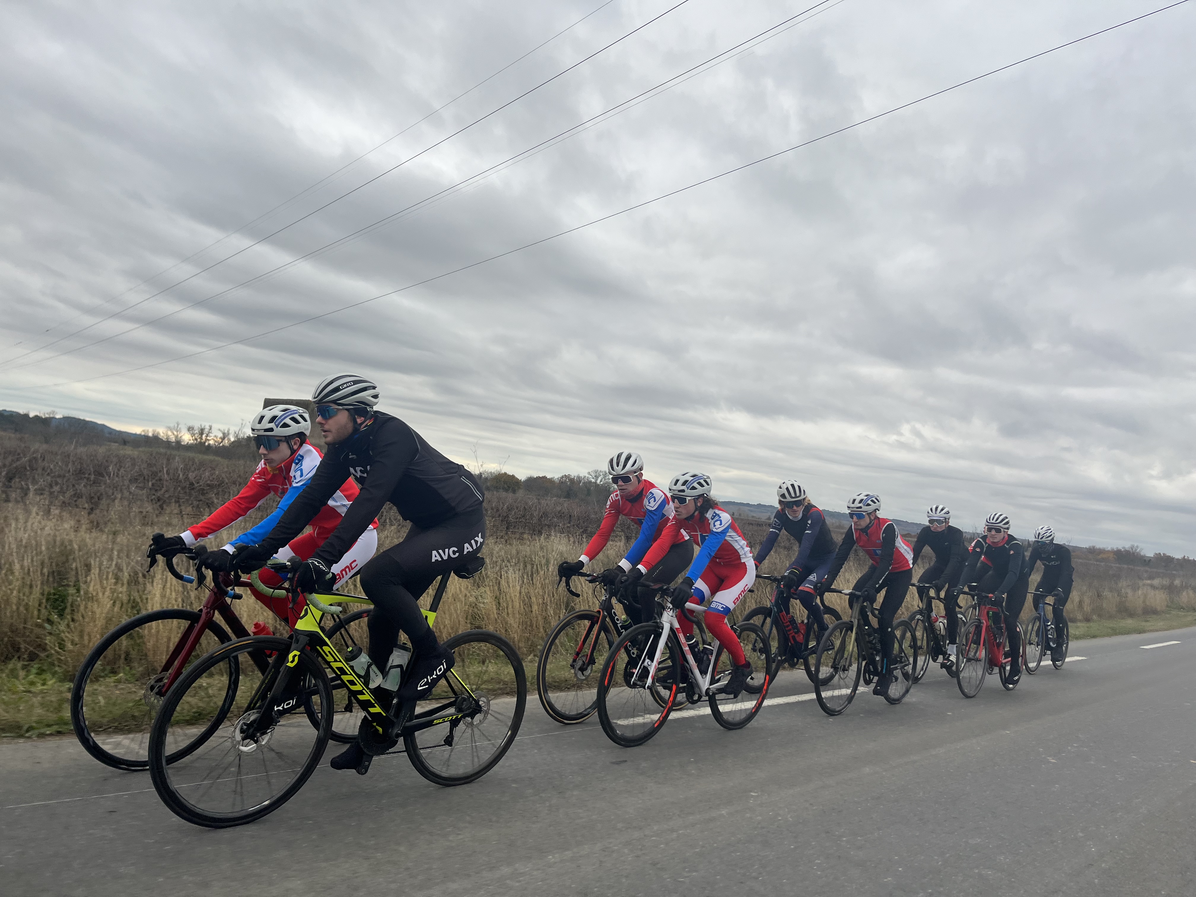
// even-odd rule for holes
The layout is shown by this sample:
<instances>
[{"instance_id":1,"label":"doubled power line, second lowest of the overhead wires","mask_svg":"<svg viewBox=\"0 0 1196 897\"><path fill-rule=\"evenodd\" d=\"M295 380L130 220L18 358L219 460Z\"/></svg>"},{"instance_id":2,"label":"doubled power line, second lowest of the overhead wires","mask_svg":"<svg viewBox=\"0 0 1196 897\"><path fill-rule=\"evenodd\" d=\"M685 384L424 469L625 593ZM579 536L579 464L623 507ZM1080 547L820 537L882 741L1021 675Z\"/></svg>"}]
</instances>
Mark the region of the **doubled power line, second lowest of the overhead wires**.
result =
<instances>
[{"instance_id":1,"label":"doubled power line, second lowest of the overhead wires","mask_svg":"<svg viewBox=\"0 0 1196 897\"><path fill-rule=\"evenodd\" d=\"M490 165L489 167L483 169L482 171L478 171L478 172L476 172L474 175L470 175L469 177L466 177L466 178L464 178L462 181L458 181L457 183L454 183L454 184L452 184L450 187L446 187L443 190L438 190L437 193L434 193L434 194L432 194L429 196L425 196L422 200L413 202L411 205L405 206L405 207L398 209L397 212L393 212L390 215L386 215L385 218L378 219L377 221L373 221L372 224L368 224L365 227L361 227L361 228L359 228L359 230L356 230L356 231L354 231L352 233L348 233L348 234L346 234L343 237L340 237L338 239L335 239L331 243L327 243L323 246L318 246L317 249L311 250L310 252L306 252L306 254L304 254L301 256L292 258L288 262L283 262L282 264L276 266L276 267L271 268L270 270L262 271L261 274L258 274L258 275L256 275L254 277L250 277L249 280L244 280L244 281L242 281L239 283L236 283L236 285L233 285L231 287L227 287L226 289L221 289L218 293L213 293L212 295L205 297L203 299L196 299L194 303L189 303L187 305L183 305L183 306L181 306L178 309L175 309L173 311L166 312L165 315L159 315L157 318L153 318L151 321L145 321L145 322L142 322L140 324L135 324L135 325L133 325L133 327L130 327L130 328L128 328L126 330L121 330L117 334L111 334L109 336L104 336L104 337L100 337L98 340L93 340L93 341L84 343L81 346L75 346L72 349L66 349L63 352L56 352L53 355L48 355L45 358L37 359L35 361L26 361L25 364L22 364L22 365L13 365L8 370L10 371L19 371L19 370L25 368L25 367L32 367L35 365L41 365L41 364L44 364L47 361L53 361L55 359L63 358L65 355L73 355L77 352L83 352L84 349L90 349L90 348L92 348L94 346L99 346L102 343L109 342L110 340L120 338L120 337L126 336L128 334L132 334L132 332L134 332L136 330L141 330L142 328L151 327L152 324L157 324L157 323L159 323L161 321L165 321L166 318L172 318L176 315L179 315L179 313L182 313L184 311L189 311L191 309L195 309L196 306L200 306L200 305L203 305L206 303L209 303L213 299L219 299L222 295L228 295L230 293L236 292L237 289L242 289L243 287L246 287L250 283L256 283L256 282L258 282L261 280L266 280L267 277L270 277L274 274L277 274L280 271L287 270L287 269L289 269L289 268L292 268L292 267L294 267L297 264L300 264L301 262L304 262L304 261L309 260L309 258L312 258L313 256L322 255L322 254L324 254L324 252L327 252L327 251L329 251L331 249L335 249L335 248L341 246L341 245L346 245L349 242L352 242L352 240L354 240L354 239L356 239L356 238L366 234L367 232L373 232L374 230L379 228L380 226L383 226L383 225L385 225L388 222L393 222L395 220L405 219L405 218L410 216L411 214L417 214L419 212L422 212L425 209L431 208L433 205L437 205L438 200L443 201L444 199L447 199L448 196L451 196L451 195L453 195L456 193L459 193L460 190L464 190L468 187L476 185L477 183L480 183L486 177L489 177L490 175L493 175L493 173L495 173L495 172L498 172L500 170L504 170L505 167L509 167L511 165L518 164L519 161L524 161L524 160L531 158L532 155L536 155L536 154L543 152L544 150L550 148L551 146L556 146L557 144L561 144L565 140L568 140L568 139L570 139L573 136L576 136L578 134L582 133L584 130L588 130L590 128L594 127L598 123L602 123L603 121L608 121L608 120L615 117L616 115L621 115L622 112L626 112L627 110L629 110L629 109L639 105L640 103L646 102L647 99L652 99L652 98L654 98L654 97L664 93L665 91L671 90L672 87L676 87L678 84L682 84L682 83L689 80L690 78L696 77L697 74L703 74L704 72L709 72L710 69L715 68L716 66L720 66L724 62L728 62L732 59L734 59L736 56L739 56L740 54L746 53L750 49L755 49L756 47L758 47L759 44L764 43L765 41L770 41L774 37L777 37L777 36L785 33L789 29L795 28L797 25L803 24L804 22L808 22L810 19L814 18L814 16L818 16L818 14L820 14L823 12L826 12L829 10L835 8L836 6L838 6L842 2L846 2L846 0L834 0L834 2L832 2L832 0L820 0L820 2L817 2L813 6L811 6L811 7L806 8L806 10L803 10L801 12L799 12L795 16L791 16L789 18L787 18L787 19L777 23L776 25L773 25L771 28L765 29L764 31L761 31L758 35L755 35L755 36L750 37L746 41L742 41L738 44L736 44L734 47L731 47L730 49L726 49L722 53L718 53L714 56L710 56L709 59L706 59L702 62L697 63L696 66L691 66L690 68L687 68L684 72L681 72L679 74L676 74L672 78L669 78L669 79L666 79L664 81L660 81L659 84L649 87L646 91L641 91L640 93L635 94L634 97L631 97L629 99L623 100L622 103L618 103L618 104L616 104L614 106L610 106L605 111L602 111L598 115L594 115L594 116L585 120L584 122L580 122L579 124L574 124L570 128L566 128L565 130L560 132L559 134L556 134L556 135L554 135L551 138L548 138L547 140L543 140L539 144L536 144L535 146L529 147L527 150L524 150L524 151L521 151L519 153L515 153L514 155L511 155L511 157L504 159L502 161L495 163L494 165ZM826 4L830 4L830 5L826 6ZM825 6L825 8L820 10L817 13L807 16L807 13L812 13L819 6ZM806 17L806 18L803 19L803 17ZM798 19L801 19L801 22L799 22Z\"/></svg>"}]
</instances>

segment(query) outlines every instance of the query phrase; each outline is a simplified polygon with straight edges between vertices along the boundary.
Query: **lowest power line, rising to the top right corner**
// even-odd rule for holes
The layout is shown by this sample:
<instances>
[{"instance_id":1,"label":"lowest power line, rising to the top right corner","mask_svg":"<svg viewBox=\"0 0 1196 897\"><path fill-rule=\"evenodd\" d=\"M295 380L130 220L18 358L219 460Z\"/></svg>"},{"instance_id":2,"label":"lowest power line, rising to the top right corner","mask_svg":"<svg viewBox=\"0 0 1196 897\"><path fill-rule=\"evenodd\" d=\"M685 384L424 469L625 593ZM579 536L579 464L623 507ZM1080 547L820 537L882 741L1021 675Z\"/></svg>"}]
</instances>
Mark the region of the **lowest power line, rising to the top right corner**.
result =
<instances>
[{"instance_id":1,"label":"lowest power line, rising to the top right corner","mask_svg":"<svg viewBox=\"0 0 1196 897\"><path fill-rule=\"evenodd\" d=\"M62 380L60 383L49 383L49 384L44 384L43 388L73 386L73 385L80 384L80 383L92 383L94 380L103 380L103 379L106 379L109 377L120 377L120 376L127 374L127 373L136 373L138 371L147 371L147 370L154 368L154 367L161 367L163 365L172 364L175 361L185 361L188 359L197 358L200 355L207 355L207 354L210 354L213 352L219 352L220 349L230 348L232 346L240 346L240 344L246 343L246 342L252 342L254 340L260 340L260 338L262 338L264 336L273 336L274 334L282 332L283 330L289 330L292 328L300 327L303 324L309 324L309 323L311 323L313 321L321 321L323 318L328 318L328 317L331 317L334 315L340 315L342 311L349 311L350 309L358 309L358 307L360 307L362 305L368 305L370 303L378 301L379 299L385 299L388 297L397 295L398 293L404 293L404 292L407 292L409 289L415 289L416 287L426 286L426 285L432 283L434 281L443 280L444 277L450 277L453 274L460 274L462 271L466 271L466 270L470 270L472 268L477 268L480 266L488 264L488 263L498 261L500 258L506 258L507 256L514 255L517 252L523 252L526 249L532 249L533 246L538 246L538 245L542 245L544 243L549 243L551 240L559 239L561 237L566 237L566 236L568 236L570 233L575 233L578 231L582 231L582 230L585 230L587 227L592 227L593 225L602 224L603 221L609 221L609 220L611 220L614 218L620 218L621 215L626 215L629 212L635 212L636 209L645 208L646 206L651 206L651 205L660 202L663 200L667 200L667 199L670 199L672 196L678 196L679 194L688 193L689 190L694 190L694 189L696 189L698 187L702 187L704 184L709 184L709 183L712 183L714 181L719 181L720 178L727 177L730 175L734 175L737 172L744 171L744 170L753 167L756 165L761 165L761 164L763 164L765 161L770 161L771 159L776 159L776 158L779 158L781 155L786 155L788 153L795 152L795 151L801 150L804 147L812 146L813 144L822 142L823 140L828 140L830 138L837 136L838 134L843 134L843 133L846 133L848 130L853 130L853 129L859 128L859 127L861 127L864 124L868 124L869 122L878 121L878 120L884 118L886 116L893 115L895 112L899 112L902 110L905 110L905 109L909 109L911 106L915 106L915 105L917 105L920 103L925 103L925 102L927 102L929 99L934 99L935 97L941 97L945 93L950 93L951 91L959 90L960 87L965 87L965 86L968 86L970 84L975 84L976 81L983 80L986 78L990 78L991 75L1000 74L1001 72L1007 72L1008 69L1014 68L1017 66L1024 65L1026 62L1031 62L1031 61L1033 61L1036 59L1042 59L1043 56L1046 56L1046 55L1049 55L1051 53L1057 53L1058 50L1066 49L1068 47L1074 47L1075 44L1082 43L1084 41L1088 41L1088 39L1093 38L1093 37L1099 37L1100 35L1106 35L1110 31L1116 31L1117 29L1124 28L1125 25L1131 25L1135 22L1141 22L1142 19L1147 19L1147 18L1149 18L1152 16L1157 16L1160 12L1166 12L1167 10L1173 10L1177 6L1183 6L1189 0L1178 0L1177 2L1170 4L1167 6L1163 6L1163 7L1158 8L1158 10L1153 10L1152 12L1147 12L1147 13L1143 13L1141 16L1135 16L1134 18L1125 19L1124 22L1121 22L1121 23L1118 23L1116 25L1110 25L1109 28L1100 29L1099 31L1093 31L1090 35L1085 35L1082 37L1076 37L1073 41L1068 41L1066 43L1061 43L1061 44L1058 44L1056 47L1051 47L1050 49L1042 50L1041 53L1036 53L1036 54L1033 54L1031 56L1026 56L1026 57L1020 59L1020 60L1018 60L1015 62L1009 62L1008 65L1001 66L1000 68L994 68L994 69L991 69L989 72L984 72L983 74L978 74L978 75L975 75L974 78L969 78L969 79L966 79L964 81L959 81L957 84L951 85L950 87L944 87L941 90L934 91L933 93L927 93L923 97L919 97L917 99L911 99L908 103L902 103L901 105L893 106L892 109L887 109L887 110L885 110L883 112L878 112L878 114L871 115L871 116L868 116L866 118L861 118L860 121L853 122L852 124L846 124L842 128L836 128L835 130L826 132L825 134L823 134L820 136L812 138L812 139L803 141L800 144L795 144L794 146L786 147L785 150L779 150L777 152L769 153L768 155L762 155L758 159L753 159L752 161L744 163L743 165L737 165L733 169L727 169L726 171L722 171L722 172L720 172L718 175L712 175L710 177L703 178L701 181L696 181L696 182L694 182L691 184L688 184L685 187L679 187L676 190L670 190L667 193L660 194L659 196L654 196L651 200L643 200L642 202L637 202L634 206L628 206L628 207L622 208L622 209L620 209L617 212L611 212L610 214L602 215L600 218L592 219L592 220L586 221L584 224L575 225L573 227L568 227L568 228L566 228L563 231L557 231L556 233L553 233L553 234L550 234L548 237L542 237L541 239L532 240L531 243L525 243L521 246L515 246L514 249L508 249L505 252L499 252L496 255L488 256L487 258L481 258L481 260L478 260L476 262L470 262L469 264L463 264L463 266L460 266L458 268L453 268L452 270L443 271L441 274L437 274L437 275L433 275L431 277L425 277L423 280L416 281L414 283L408 283L407 286L398 287L396 289L391 289L391 291L388 291L385 293L379 293L378 295L373 295L373 297L370 297L367 299L361 299L359 301L350 303L348 305L342 305L342 306L340 306L337 309L332 309L330 311L325 311L325 312L322 312L319 315L312 315L310 317L303 318L300 321L292 322L289 324L283 324L281 327L271 328L270 330L263 330L262 332L254 334L252 336L245 336L245 337L242 337L239 340L230 340L228 342L220 343L218 346L212 346L212 347L209 347L207 349L200 349L197 352L191 352L191 353L188 353L185 355L176 355L175 358L164 359L161 361L154 361L154 362L151 362L148 365L139 365L136 367L129 367L129 368L126 368L123 371L114 371L114 372L106 373L106 374L98 374L96 377L85 377L85 378L80 378L78 380Z\"/></svg>"}]
</instances>

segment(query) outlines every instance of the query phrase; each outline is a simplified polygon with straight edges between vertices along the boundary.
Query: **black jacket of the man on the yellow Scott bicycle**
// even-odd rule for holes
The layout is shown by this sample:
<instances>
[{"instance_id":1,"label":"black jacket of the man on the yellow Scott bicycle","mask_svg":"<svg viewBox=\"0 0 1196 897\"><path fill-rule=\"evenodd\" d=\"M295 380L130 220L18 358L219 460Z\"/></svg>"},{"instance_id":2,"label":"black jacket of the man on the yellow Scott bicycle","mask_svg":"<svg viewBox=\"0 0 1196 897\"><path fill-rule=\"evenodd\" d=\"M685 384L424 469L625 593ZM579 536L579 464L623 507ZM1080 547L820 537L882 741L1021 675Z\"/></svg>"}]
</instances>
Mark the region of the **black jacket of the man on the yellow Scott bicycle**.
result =
<instances>
[{"instance_id":1,"label":"black jacket of the man on the yellow Scott bicycle","mask_svg":"<svg viewBox=\"0 0 1196 897\"><path fill-rule=\"evenodd\" d=\"M313 555L329 566L353 547L388 501L421 530L482 506L477 477L398 417L376 411L354 435L328 446L307 487L262 544L275 551L287 544L350 476L361 492Z\"/></svg>"}]
</instances>

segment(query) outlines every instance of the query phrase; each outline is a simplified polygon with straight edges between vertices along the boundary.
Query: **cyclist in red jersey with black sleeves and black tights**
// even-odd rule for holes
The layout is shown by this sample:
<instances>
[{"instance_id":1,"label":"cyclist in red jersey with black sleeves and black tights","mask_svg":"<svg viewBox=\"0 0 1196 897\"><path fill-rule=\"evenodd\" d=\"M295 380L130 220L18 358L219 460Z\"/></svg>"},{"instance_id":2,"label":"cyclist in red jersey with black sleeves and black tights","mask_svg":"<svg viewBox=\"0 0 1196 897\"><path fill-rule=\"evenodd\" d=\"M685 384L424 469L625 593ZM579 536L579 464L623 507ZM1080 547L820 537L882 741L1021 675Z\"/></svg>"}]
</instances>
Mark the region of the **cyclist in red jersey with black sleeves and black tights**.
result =
<instances>
[{"instance_id":1,"label":"cyclist in red jersey with black sleeves and black tights","mask_svg":"<svg viewBox=\"0 0 1196 897\"><path fill-rule=\"evenodd\" d=\"M847 502L847 515L852 525L838 543L838 551L831 562L826 579L818 587L822 594L835 585L835 578L847 562L852 549L859 545L872 561L872 569L860 576L853 592L862 592L864 600L874 602L880 592L884 600L877 612L880 617L880 648L884 653L885 669L877 679L873 695L887 695L893 683L893 617L905 603L905 592L914 579L914 550L897 532L897 524L880 517L880 496L861 492ZM855 600L855 599L853 599Z\"/></svg>"}]
</instances>

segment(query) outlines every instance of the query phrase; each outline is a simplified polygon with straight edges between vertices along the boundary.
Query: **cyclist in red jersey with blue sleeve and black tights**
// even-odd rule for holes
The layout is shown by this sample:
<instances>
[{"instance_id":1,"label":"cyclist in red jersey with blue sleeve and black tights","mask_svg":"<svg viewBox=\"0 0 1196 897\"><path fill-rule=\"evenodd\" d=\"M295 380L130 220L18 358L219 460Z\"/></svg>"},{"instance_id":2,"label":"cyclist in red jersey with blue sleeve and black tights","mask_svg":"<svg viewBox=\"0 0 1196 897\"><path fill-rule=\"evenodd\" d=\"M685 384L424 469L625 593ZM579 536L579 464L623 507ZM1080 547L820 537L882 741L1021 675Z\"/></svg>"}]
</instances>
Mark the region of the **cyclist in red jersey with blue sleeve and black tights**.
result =
<instances>
[{"instance_id":1,"label":"cyclist in red jersey with blue sleeve and black tights","mask_svg":"<svg viewBox=\"0 0 1196 897\"><path fill-rule=\"evenodd\" d=\"M556 573L562 578L581 573L587 563L602 554L615 531L615 524L621 517L626 517L639 525L640 533L623 559L600 575L608 585L620 586L620 600L627 616L633 623L641 623L654 616L655 608L651 591L637 591L641 580L643 585L672 582L694 557L694 543L684 532L673 532L652 563L636 567L648 549L659 543L665 527L673 519L672 500L664 489L643 478L643 459L635 452L612 456L606 462L606 472L610 474L615 489L606 501L606 513L603 514L598 532L590 539L581 557L561 562ZM641 611L641 602L648 604L647 611Z\"/></svg>"}]
</instances>

